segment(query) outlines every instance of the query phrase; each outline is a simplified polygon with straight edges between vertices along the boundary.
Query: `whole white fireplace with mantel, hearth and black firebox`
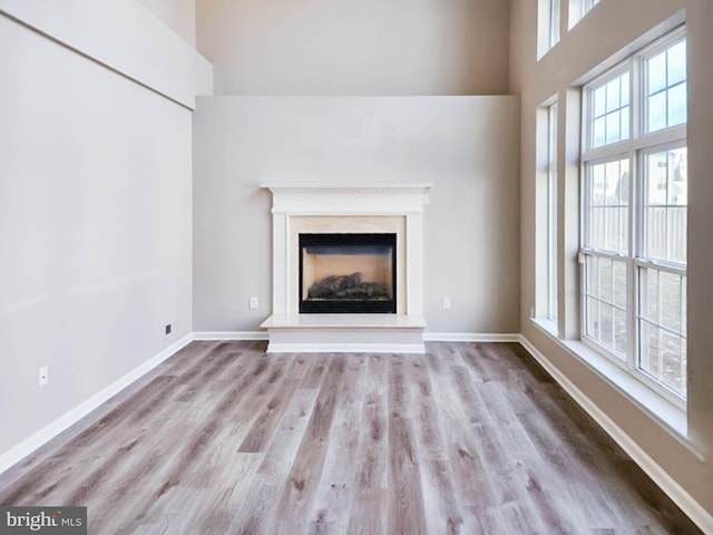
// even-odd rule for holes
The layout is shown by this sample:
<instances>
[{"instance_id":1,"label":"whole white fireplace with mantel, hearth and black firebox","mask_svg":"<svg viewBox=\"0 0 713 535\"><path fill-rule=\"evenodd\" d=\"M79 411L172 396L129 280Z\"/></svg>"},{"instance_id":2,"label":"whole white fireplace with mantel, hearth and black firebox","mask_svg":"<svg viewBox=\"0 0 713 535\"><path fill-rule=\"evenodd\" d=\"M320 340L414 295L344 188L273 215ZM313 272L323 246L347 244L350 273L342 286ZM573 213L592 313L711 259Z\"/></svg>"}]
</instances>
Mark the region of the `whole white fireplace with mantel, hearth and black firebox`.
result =
<instances>
[{"instance_id":1,"label":"whole white fireplace with mantel, hearth and black firebox","mask_svg":"<svg viewBox=\"0 0 713 535\"><path fill-rule=\"evenodd\" d=\"M422 353L430 184L265 184L273 197L268 352Z\"/></svg>"}]
</instances>

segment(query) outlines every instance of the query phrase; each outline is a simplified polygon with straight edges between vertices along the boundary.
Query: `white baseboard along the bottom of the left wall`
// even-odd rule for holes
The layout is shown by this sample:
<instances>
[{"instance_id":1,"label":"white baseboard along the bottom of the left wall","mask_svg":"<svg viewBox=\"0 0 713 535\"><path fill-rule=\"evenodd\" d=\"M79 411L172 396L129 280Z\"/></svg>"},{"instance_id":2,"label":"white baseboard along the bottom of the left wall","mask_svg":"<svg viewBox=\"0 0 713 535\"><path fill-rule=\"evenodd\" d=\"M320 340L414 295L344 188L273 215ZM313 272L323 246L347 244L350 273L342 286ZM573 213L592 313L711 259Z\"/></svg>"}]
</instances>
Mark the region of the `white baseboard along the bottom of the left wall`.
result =
<instances>
[{"instance_id":1,"label":"white baseboard along the bottom of the left wall","mask_svg":"<svg viewBox=\"0 0 713 535\"><path fill-rule=\"evenodd\" d=\"M150 370L153 370L163 361L168 359L168 357L174 354L176 351L179 351L192 341L193 341L193 335L186 334L180 340L176 341L175 343L172 343L166 349L155 354L143 364L137 366L131 371L126 373L124 377L120 377L119 379L114 381L111 385L109 385L105 389L100 390L99 392L95 393L94 396L86 399L81 403L77 405L74 409L70 409L69 411L65 412L62 416L57 418L51 424L45 426L42 429L35 432L33 435L30 435L28 438L22 440L17 446L2 453L0 455L0 474L2 474L4 470L10 468L11 466L14 466L17 463L22 460L25 457L30 455L40 446L43 446L45 444L47 444L49 440L55 438L60 432L67 430L70 426L72 426L74 424L79 421L81 418L87 416L89 412L91 412L92 410L101 406L101 403L105 403L111 397L116 396L118 392L120 392L121 390L127 388L129 385L131 385L134 381L144 377Z\"/></svg>"}]
</instances>

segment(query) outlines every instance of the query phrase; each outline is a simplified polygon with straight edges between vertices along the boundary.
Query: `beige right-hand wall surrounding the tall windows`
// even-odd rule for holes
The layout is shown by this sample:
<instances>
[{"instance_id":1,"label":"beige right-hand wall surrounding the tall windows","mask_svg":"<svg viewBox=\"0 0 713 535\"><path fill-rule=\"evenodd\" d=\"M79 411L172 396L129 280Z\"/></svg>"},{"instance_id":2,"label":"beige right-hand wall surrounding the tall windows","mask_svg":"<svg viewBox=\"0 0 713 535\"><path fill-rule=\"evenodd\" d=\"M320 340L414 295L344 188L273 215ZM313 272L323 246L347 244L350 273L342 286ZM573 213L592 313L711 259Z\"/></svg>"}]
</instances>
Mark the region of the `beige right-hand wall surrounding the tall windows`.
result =
<instances>
[{"instance_id":1,"label":"beige right-hand wall surrounding the tall windows","mask_svg":"<svg viewBox=\"0 0 713 535\"><path fill-rule=\"evenodd\" d=\"M563 2L567 3L567 2ZM567 380L582 390L624 430L637 447L666 470L709 514L713 514L713 330L710 307L713 302L713 251L711 250L711 206L713 181L710 171L710 139L713 134L713 87L711 50L713 2L710 0L603 0L541 61L536 61L536 9L531 0L511 2L510 88L521 95L521 332ZM683 11L683 10L686 11ZM565 11L566 13L566 11ZM577 216L578 144L580 107L576 87L586 74L607 58L615 60L631 54L652 36L661 33L662 25L673 26L687 19L690 54L690 124L688 124L688 391L687 438L677 440L647 416L627 397L613 389L608 381L564 350L536 328L529 319L535 305L535 182L536 182L536 114L550 96L559 97L559 195L560 202L560 301L575 303L577 289ZM609 64L611 65L611 64ZM599 69L600 71L602 69ZM567 134L569 132L569 134ZM574 140L573 140L574 139ZM567 211L563 211L569 206ZM574 217L573 217L574 213ZM573 232L574 230L574 232ZM573 246L574 245L574 246ZM576 337L577 310L560 308L560 329ZM690 447L685 444L688 442ZM707 455L702 461L692 453ZM713 527L713 526L712 526Z\"/></svg>"}]
</instances>

